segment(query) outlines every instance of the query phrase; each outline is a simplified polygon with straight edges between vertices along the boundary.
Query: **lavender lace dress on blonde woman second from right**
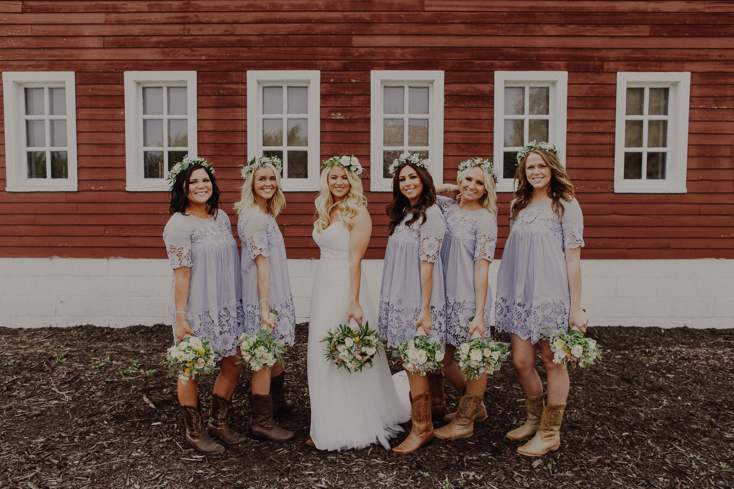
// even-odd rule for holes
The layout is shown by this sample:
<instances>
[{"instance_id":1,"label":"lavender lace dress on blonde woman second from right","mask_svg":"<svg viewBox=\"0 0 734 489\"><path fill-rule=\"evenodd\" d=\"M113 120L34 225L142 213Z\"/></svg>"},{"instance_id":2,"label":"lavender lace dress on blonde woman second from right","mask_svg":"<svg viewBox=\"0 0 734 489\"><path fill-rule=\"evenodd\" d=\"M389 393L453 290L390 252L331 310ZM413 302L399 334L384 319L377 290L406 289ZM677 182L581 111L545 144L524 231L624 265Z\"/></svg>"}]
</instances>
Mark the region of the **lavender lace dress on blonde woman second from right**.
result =
<instances>
[{"instance_id":1,"label":"lavender lace dress on blonde woman second from right","mask_svg":"<svg viewBox=\"0 0 734 489\"><path fill-rule=\"evenodd\" d=\"M469 318L476 315L474 262L495 257L497 219L487 209L462 210L454 199L438 196L446 218L446 236L441 244L443 280L446 284L446 342L459 346L469 340ZM487 284L484 323L490 334L492 289Z\"/></svg>"}]
</instances>

